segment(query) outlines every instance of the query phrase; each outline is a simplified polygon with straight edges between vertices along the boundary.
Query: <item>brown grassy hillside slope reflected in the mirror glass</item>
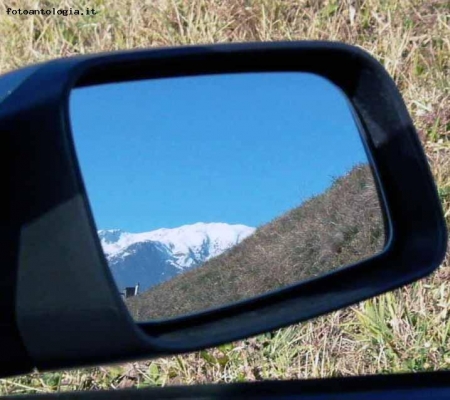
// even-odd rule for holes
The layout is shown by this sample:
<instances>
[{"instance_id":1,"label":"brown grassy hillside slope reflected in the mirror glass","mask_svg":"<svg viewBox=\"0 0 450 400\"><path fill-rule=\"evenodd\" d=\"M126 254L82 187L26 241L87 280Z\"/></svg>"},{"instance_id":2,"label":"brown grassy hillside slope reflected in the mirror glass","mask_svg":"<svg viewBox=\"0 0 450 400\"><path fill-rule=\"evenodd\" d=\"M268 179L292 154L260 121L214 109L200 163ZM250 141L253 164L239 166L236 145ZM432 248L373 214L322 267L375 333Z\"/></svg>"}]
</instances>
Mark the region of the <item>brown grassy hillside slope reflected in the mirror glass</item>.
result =
<instances>
[{"instance_id":1,"label":"brown grassy hillside slope reflected in the mirror glass","mask_svg":"<svg viewBox=\"0 0 450 400\"><path fill-rule=\"evenodd\" d=\"M145 321L248 299L378 253L383 229L370 167L360 165L231 250L127 305Z\"/></svg>"}]
</instances>

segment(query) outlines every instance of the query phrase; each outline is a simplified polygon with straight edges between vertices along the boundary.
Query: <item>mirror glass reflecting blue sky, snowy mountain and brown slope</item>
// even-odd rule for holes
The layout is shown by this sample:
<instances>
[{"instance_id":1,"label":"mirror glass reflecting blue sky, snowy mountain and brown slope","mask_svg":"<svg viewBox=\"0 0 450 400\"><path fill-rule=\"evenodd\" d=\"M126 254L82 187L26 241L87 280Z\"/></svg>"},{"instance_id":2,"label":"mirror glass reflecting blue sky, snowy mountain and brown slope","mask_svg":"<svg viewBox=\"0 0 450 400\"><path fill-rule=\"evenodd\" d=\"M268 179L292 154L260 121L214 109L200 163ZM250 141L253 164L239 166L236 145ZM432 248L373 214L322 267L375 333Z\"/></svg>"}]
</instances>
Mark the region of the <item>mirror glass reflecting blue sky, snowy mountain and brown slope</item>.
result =
<instances>
[{"instance_id":1,"label":"mirror glass reflecting blue sky, snowy mountain and brown slope","mask_svg":"<svg viewBox=\"0 0 450 400\"><path fill-rule=\"evenodd\" d=\"M385 230L345 95L309 73L73 90L101 244L136 320L225 306L371 257Z\"/></svg>"}]
</instances>

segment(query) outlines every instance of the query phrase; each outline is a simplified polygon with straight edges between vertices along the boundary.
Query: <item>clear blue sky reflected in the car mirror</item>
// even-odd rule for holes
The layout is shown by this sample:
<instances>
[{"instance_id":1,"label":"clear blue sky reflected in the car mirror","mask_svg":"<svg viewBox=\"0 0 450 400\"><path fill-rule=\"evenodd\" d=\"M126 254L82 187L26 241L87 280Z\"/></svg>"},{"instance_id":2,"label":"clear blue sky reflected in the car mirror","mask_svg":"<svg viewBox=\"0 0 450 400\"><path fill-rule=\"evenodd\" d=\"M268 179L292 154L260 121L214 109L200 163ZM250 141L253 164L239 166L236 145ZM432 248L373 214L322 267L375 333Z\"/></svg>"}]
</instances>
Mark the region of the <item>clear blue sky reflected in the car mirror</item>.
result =
<instances>
[{"instance_id":1,"label":"clear blue sky reflected in the car mirror","mask_svg":"<svg viewBox=\"0 0 450 400\"><path fill-rule=\"evenodd\" d=\"M345 96L306 73L80 88L70 111L99 229L259 226L367 162Z\"/></svg>"}]
</instances>

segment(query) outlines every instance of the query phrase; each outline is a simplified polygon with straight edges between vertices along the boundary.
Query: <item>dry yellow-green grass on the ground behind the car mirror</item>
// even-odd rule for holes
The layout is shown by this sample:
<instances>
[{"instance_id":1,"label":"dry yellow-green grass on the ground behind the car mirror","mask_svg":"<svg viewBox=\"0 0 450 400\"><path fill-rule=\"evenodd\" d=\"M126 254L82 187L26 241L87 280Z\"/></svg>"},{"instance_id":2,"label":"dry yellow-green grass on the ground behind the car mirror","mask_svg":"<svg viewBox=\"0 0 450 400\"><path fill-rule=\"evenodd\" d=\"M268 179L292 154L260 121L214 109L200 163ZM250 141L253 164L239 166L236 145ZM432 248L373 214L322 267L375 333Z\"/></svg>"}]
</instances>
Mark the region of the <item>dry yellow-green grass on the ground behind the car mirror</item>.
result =
<instances>
[{"instance_id":1,"label":"dry yellow-green grass on the ground behind the car mirror","mask_svg":"<svg viewBox=\"0 0 450 400\"><path fill-rule=\"evenodd\" d=\"M97 8L93 17L9 7ZM450 222L450 8L446 0L80 0L0 4L0 71L72 54L186 43L356 44L395 78ZM346 310L186 356L0 380L0 393L329 377L450 367L448 258L433 276Z\"/></svg>"}]
</instances>

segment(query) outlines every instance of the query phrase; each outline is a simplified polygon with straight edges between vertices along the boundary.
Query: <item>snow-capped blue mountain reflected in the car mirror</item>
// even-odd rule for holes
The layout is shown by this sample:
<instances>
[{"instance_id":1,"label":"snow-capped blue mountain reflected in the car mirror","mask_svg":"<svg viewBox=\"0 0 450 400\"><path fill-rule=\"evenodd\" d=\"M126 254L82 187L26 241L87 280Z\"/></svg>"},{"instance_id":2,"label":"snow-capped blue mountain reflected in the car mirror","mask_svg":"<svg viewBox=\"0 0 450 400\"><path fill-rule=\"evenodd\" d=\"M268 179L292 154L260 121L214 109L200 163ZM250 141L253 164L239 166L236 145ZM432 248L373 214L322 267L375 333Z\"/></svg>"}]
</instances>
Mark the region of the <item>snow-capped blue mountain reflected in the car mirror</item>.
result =
<instances>
[{"instance_id":1,"label":"snow-capped blue mountain reflected in the car mirror","mask_svg":"<svg viewBox=\"0 0 450 400\"><path fill-rule=\"evenodd\" d=\"M246 225L199 222L142 233L100 230L98 235L118 288L139 284L142 291L198 267L254 231Z\"/></svg>"}]
</instances>

